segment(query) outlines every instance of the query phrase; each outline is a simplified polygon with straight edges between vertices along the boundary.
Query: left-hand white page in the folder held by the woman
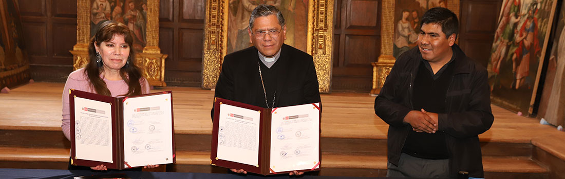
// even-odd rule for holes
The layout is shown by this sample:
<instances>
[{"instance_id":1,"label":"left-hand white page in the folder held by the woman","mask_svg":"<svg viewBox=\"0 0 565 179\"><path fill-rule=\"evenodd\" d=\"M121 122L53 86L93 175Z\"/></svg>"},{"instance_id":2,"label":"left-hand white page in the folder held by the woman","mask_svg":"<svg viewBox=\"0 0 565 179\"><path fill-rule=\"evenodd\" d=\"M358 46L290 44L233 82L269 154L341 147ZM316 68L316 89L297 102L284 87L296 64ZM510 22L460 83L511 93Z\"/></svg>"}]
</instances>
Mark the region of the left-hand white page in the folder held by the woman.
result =
<instances>
[{"instance_id":1,"label":"left-hand white page in the folder held by the woman","mask_svg":"<svg viewBox=\"0 0 565 179\"><path fill-rule=\"evenodd\" d=\"M109 103L75 97L75 156L114 163L112 106Z\"/></svg>"}]
</instances>

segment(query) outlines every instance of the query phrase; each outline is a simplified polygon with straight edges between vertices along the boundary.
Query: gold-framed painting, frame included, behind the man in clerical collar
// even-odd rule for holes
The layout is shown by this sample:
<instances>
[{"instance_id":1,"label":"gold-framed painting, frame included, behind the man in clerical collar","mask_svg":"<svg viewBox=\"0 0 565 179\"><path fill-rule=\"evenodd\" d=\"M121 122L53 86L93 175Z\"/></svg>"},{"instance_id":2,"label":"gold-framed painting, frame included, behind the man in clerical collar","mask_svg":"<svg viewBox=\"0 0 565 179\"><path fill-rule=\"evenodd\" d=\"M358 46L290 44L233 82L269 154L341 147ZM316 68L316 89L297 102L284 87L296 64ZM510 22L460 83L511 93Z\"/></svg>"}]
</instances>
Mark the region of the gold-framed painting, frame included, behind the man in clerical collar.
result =
<instances>
[{"instance_id":1,"label":"gold-framed painting, frame included, behind the man in clerical collar","mask_svg":"<svg viewBox=\"0 0 565 179\"><path fill-rule=\"evenodd\" d=\"M285 44L314 57L320 92L329 92L332 74L333 0L208 0L202 60L202 88L214 88L223 57L250 47L249 17L259 4L281 10Z\"/></svg>"}]
</instances>

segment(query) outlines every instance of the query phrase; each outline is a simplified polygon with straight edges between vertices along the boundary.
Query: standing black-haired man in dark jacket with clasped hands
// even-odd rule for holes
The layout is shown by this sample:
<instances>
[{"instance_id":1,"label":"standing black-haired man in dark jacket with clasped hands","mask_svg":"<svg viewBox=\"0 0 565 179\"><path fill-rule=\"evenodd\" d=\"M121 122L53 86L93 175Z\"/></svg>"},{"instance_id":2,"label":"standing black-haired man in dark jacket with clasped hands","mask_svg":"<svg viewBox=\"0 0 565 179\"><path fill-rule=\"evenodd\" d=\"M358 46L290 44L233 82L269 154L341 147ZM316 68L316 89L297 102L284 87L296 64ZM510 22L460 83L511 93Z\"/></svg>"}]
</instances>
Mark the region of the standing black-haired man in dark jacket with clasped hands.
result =
<instances>
[{"instance_id":1,"label":"standing black-haired man in dark jacket with clasped hands","mask_svg":"<svg viewBox=\"0 0 565 179\"><path fill-rule=\"evenodd\" d=\"M446 8L421 20L418 47L398 57L375 99L388 123L388 177L484 177L479 134L492 126L486 69L455 44Z\"/></svg>"}]
</instances>

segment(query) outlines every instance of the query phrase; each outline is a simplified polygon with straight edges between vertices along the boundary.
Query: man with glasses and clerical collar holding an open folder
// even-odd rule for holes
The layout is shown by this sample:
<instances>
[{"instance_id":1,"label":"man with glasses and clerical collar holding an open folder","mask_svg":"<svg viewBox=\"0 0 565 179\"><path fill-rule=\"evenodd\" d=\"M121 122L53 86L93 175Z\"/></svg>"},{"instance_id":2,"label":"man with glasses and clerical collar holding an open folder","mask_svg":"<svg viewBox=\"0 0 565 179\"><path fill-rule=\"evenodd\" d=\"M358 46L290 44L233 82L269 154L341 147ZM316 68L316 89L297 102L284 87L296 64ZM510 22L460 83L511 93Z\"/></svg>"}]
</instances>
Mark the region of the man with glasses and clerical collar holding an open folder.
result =
<instances>
[{"instance_id":1,"label":"man with glasses and clerical collar holding an open folder","mask_svg":"<svg viewBox=\"0 0 565 179\"><path fill-rule=\"evenodd\" d=\"M284 23L275 6L259 5L251 12L247 31L253 47L224 57L215 97L263 108L320 102L312 56L284 44ZM211 117L213 120L213 106Z\"/></svg>"}]
</instances>

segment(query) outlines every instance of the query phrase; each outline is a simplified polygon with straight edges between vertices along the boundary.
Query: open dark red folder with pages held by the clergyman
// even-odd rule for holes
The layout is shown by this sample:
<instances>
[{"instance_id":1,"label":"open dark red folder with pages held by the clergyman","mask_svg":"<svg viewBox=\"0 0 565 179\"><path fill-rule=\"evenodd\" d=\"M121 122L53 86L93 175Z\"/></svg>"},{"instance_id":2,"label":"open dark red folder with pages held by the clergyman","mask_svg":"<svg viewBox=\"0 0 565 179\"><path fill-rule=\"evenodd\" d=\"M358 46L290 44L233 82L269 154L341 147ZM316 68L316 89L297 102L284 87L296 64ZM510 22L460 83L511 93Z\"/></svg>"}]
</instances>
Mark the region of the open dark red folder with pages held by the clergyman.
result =
<instances>
[{"instance_id":1,"label":"open dark red folder with pages held by the clergyman","mask_svg":"<svg viewBox=\"0 0 565 179\"><path fill-rule=\"evenodd\" d=\"M320 170L320 103L266 109L216 97L211 164L263 175Z\"/></svg>"}]
</instances>

